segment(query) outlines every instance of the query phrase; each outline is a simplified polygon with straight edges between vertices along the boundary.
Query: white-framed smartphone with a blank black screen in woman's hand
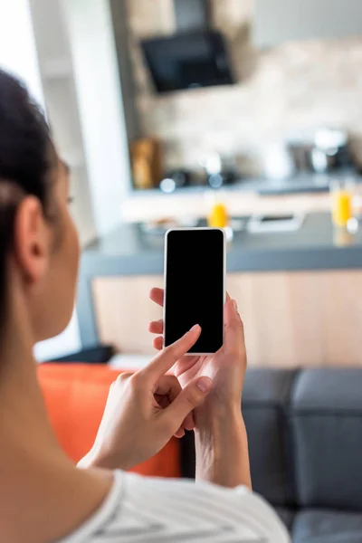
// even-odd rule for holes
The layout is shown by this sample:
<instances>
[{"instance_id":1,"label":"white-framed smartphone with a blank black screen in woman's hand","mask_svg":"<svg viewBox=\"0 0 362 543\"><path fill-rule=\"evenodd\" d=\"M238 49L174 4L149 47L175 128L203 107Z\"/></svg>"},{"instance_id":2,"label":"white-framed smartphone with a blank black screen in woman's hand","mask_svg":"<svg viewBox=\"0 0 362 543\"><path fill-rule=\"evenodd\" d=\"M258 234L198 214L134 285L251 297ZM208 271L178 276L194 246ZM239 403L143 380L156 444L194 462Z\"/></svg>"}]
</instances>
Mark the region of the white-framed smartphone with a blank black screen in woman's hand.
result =
<instances>
[{"instance_id":1,"label":"white-framed smartphone with a blank black screen in woman's hand","mask_svg":"<svg viewBox=\"0 0 362 543\"><path fill-rule=\"evenodd\" d=\"M214 354L224 343L224 230L169 230L165 244L164 345L199 324L200 338L188 354Z\"/></svg>"}]
</instances>

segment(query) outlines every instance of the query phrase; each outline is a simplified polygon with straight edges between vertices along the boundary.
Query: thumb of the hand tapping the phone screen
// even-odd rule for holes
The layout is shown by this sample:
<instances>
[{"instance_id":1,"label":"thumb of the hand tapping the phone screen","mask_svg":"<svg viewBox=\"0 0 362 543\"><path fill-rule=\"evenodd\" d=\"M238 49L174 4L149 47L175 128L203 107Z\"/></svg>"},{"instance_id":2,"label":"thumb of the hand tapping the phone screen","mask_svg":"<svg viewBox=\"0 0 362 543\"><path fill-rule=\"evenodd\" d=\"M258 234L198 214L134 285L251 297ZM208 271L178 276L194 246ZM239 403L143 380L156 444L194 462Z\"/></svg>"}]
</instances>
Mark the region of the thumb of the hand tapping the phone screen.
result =
<instances>
[{"instance_id":1,"label":"thumb of the hand tapping the phone screen","mask_svg":"<svg viewBox=\"0 0 362 543\"><path fill-rule=\"evenodd\" d=\"M186 416L194 411L195 407L202 404L212 386L213 381L210 377L199 377L187 385L172 404L164 410L164 416L168 418L173 433L182 425Z\"/></svg>"}]
</instances>

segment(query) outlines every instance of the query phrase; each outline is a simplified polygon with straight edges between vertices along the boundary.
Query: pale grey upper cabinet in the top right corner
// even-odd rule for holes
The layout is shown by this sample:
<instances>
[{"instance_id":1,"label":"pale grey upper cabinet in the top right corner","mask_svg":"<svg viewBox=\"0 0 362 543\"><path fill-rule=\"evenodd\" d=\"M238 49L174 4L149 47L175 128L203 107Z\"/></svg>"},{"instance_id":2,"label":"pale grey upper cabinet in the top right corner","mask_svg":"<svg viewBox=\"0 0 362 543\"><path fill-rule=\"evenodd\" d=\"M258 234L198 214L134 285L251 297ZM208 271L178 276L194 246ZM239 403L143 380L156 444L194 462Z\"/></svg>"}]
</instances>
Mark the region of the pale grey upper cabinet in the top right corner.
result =
<instances>
[{"instance_id":1,"label":"pale grey upper cabinet in the top right corner","mask_svg":"<svg viewBox=\"0 0 362 543\"><path fill-rule=\"evenodd\" d=\"M362 34L361 0L255 0L253 42L284 42Z\"/></svg>"}]
</instances>

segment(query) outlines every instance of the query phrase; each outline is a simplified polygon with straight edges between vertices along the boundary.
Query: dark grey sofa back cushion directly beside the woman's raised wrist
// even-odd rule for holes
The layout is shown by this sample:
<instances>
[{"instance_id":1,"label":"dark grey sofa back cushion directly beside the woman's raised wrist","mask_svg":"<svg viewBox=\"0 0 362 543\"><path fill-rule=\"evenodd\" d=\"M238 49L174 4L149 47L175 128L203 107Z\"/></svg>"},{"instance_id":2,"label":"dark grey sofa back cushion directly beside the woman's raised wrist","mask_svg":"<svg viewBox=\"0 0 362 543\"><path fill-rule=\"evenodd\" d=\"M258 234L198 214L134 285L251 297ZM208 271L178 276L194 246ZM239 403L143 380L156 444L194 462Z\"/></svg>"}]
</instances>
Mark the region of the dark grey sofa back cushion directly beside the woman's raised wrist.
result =
<instances>
[{"instance_id":1,"label":"dark grey sofa back cushion directly beside the woman's raised wrist","mask_svg":"<svg viewBox=\"0 0 362 543\"><path fill-rule=\"evenodd\" d=\"M290 401L294 377L291 371L250 368L243 389L252 485L274 506L289 506L295 501L284 409Z\"/></svg>"}]
</instances>

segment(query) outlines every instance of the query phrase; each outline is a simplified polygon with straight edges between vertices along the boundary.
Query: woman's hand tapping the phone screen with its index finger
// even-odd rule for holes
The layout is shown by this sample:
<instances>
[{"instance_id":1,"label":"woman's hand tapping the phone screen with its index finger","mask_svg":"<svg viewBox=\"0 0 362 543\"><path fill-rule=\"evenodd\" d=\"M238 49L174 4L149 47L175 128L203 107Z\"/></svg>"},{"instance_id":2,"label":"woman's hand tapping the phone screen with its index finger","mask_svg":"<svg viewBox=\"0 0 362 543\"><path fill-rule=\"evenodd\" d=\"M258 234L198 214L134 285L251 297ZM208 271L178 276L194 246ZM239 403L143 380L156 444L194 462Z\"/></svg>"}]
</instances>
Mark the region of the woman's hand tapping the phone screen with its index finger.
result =
<instances>
[{"instance_id":1,"label":"woman's hand tapping the phone screen with its index finger","mask_svg":"<svg viewBox=\"0 0 362 543\"><path fill-rule=\"evenodd\" d=\"M182 389L176 376L165 374L195 345L200 331L194 327L148 367L118 377L94 446L80 467L129 470L159 452L174 434L185 433L187 415L205 400L212 382L195 376Z\"/></svg>"}]
</instances>

